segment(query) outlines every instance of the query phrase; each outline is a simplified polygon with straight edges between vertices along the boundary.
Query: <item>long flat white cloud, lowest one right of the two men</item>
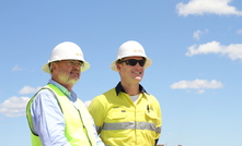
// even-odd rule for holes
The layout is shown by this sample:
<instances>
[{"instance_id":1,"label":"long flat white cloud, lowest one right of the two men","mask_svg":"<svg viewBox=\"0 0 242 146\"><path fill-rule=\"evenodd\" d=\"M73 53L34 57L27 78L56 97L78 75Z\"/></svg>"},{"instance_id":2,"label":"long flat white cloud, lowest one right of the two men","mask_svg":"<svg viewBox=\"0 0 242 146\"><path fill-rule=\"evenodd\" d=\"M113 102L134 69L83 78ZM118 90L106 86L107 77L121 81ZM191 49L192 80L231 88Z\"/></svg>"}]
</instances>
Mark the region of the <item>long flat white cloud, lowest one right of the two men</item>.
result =
<instances>
[{"instance_id":1,"label":"long flat white cloud, lowest one right of the two men","mask_svg":"<svg viewBox=\"0 0 242 146\"><path fill-rule=\"evenodd\" d=\"M215 89L223 87L221 82L212 80L208 82L207 80L195 80L195 81L180 81L173 83L171 86L173 89L197 89L198 94L205 93L206 88Z\"/></svg>"}]
</instances>

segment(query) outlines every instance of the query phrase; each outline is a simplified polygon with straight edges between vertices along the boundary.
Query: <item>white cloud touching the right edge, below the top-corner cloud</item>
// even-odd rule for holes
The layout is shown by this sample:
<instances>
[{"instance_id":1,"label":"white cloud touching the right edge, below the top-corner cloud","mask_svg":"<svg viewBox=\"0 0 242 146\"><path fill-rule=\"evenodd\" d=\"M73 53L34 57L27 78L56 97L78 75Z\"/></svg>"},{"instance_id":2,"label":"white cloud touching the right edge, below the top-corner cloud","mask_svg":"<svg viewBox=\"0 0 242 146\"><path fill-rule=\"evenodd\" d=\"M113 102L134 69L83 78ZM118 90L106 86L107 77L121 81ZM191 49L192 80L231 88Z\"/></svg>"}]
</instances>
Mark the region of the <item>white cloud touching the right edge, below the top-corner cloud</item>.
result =
<instances>
[{"instance_id":1,"label":"white cloud touching the right edge, below the top-corner cloud","mask_svg":"<svg viewBox=\"0 0 242 146\"><path fill-rule=\"evenodd\" d=\"M229 46L222 46L218 41L211 41L204 45L193 45L188 47L186 56L192 57L195 54L208 54L220 53L228 56L231 60L242 60L242 44L231 44Z\"/></svg>"}]
</instances>

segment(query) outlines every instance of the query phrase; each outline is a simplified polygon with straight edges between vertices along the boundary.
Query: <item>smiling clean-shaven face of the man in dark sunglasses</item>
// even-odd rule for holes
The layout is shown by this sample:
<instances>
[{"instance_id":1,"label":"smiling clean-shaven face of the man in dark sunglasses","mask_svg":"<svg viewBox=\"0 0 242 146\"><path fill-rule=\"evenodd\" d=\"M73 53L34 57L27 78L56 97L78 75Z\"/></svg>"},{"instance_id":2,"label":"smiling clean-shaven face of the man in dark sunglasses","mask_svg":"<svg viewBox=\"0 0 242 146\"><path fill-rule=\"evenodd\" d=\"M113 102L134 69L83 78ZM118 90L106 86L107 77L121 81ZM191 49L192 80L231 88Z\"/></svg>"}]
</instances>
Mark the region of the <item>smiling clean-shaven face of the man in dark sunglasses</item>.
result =
<instances>
[{"instance_id":1,"label":"smiling clean-shaven face of the man in dark sunglasses","mask_svg":"<svg viewBox=\"0 0 242 146\"><path fill-rule=\"evenodd\" d=\"M129 60L129 61L127 61ZM122 59L120 63L117 63L117 70L120 74L123 82L128 83L139 83L142 80L145 73L145 66L141 66L140 63L136 63L136 60L141 61L141 57L128 57Z\"/></svg>"}]
</instances>

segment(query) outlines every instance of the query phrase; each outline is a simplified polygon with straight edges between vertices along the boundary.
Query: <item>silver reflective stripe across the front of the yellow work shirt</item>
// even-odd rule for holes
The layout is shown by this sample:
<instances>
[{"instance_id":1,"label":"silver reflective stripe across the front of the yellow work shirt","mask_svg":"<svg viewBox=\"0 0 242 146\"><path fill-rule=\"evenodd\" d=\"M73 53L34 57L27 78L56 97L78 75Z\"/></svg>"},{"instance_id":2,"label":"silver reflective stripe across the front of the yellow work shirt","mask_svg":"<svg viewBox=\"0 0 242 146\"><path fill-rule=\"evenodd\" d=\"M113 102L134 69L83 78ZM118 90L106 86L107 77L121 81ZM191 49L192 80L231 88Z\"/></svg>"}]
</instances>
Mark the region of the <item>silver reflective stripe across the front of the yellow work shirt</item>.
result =
<instances>
[{"instance_id":1,"label":"silver reflective stripe across the front of the yellow work shirt","mask_svg":"<svg viewBox=\"0 0 242 146\"><path fill-rule=\"evenodd\" d=\"M115 131L115 130L150 130L150 131L157 132L155 124L154 123L149 123L149 122L104 123L102 130L105 130L105 131Z\"/></svg>"}]
</instances>

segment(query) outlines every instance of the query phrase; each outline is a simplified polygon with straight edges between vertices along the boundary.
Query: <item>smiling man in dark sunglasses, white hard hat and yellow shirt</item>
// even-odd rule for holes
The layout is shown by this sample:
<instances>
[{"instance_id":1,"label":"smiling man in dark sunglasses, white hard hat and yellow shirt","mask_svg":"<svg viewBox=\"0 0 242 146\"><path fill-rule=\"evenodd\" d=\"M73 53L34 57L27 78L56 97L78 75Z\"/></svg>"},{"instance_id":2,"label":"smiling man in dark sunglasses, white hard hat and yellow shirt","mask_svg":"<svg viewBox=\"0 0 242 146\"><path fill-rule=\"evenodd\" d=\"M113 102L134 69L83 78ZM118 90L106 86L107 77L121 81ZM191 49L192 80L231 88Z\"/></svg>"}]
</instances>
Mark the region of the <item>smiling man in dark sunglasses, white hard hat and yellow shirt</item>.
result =
<instances>
[{"instance_id":1,"label":"smiling man in dark sunglasses, white hard hat and yellow shirt","mask_svg":"<svg viewBox=\"0 0 242 146\"><path fill-rule=\"evenodd\" d=\"M119 73L120 82L89 106L105 145L157 145L162 125L160 105L139 84L151 63L139 42L129 40L119 47L111 69Z\"/></svg>"}]
</instances>

